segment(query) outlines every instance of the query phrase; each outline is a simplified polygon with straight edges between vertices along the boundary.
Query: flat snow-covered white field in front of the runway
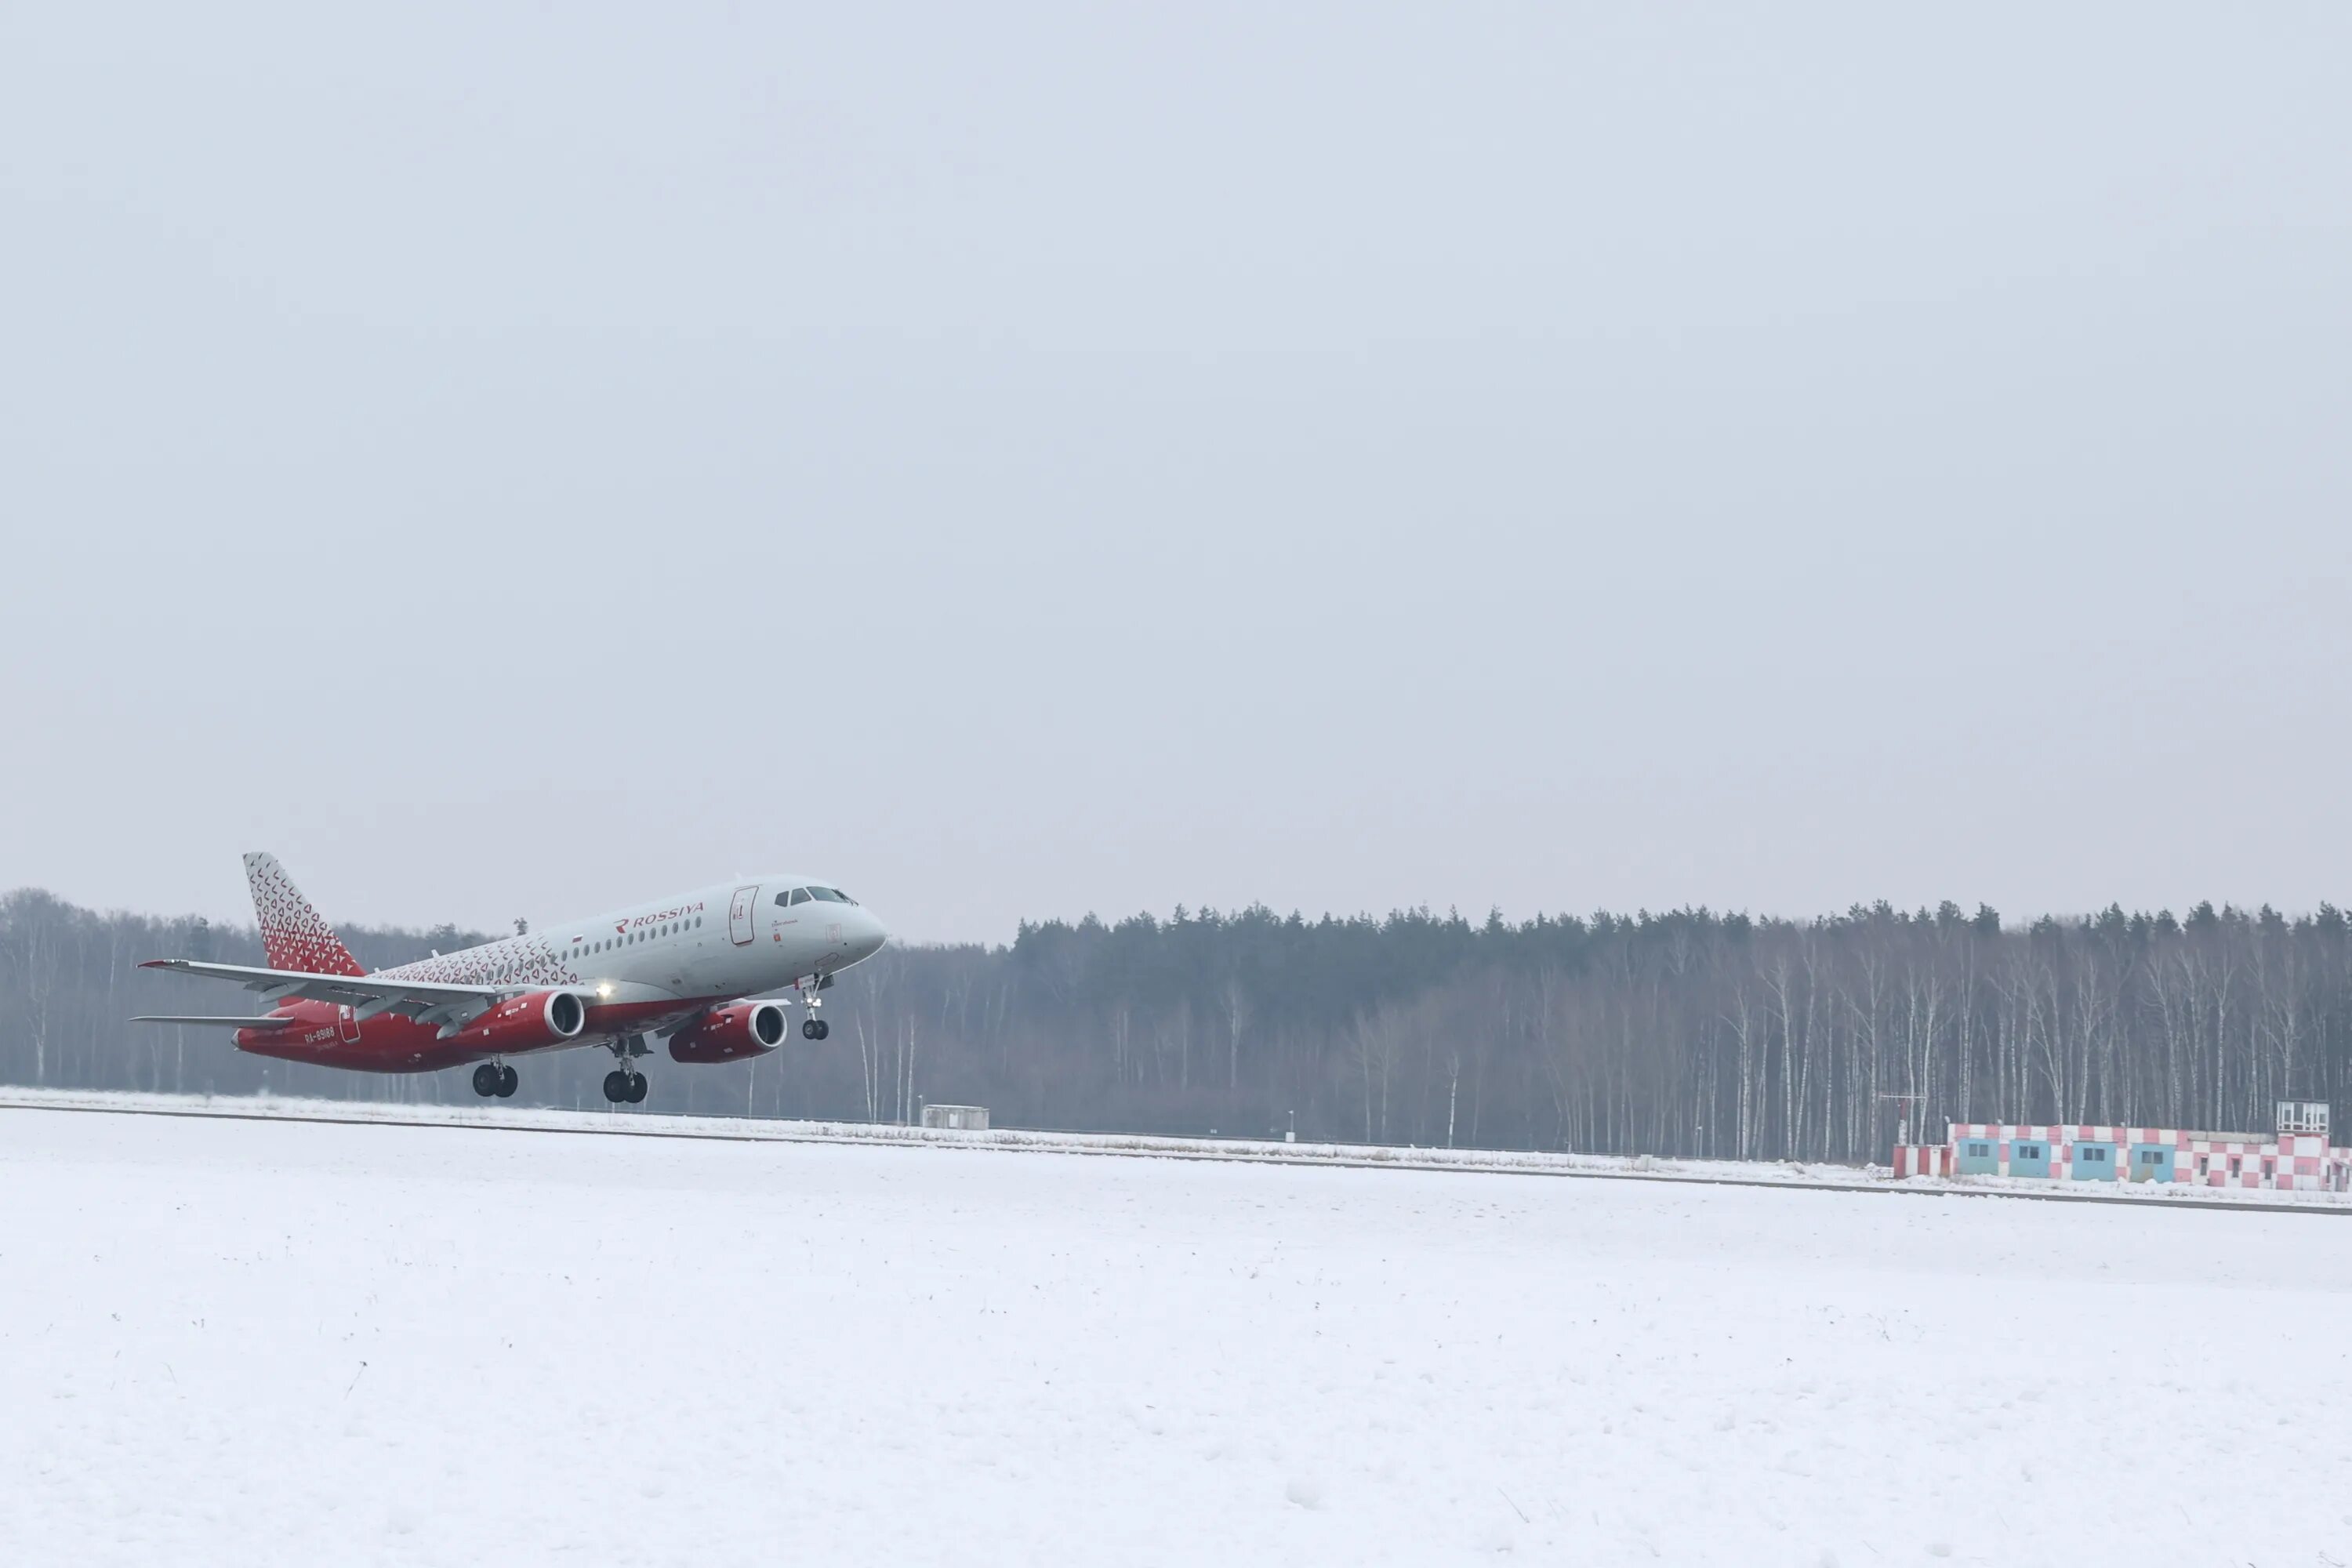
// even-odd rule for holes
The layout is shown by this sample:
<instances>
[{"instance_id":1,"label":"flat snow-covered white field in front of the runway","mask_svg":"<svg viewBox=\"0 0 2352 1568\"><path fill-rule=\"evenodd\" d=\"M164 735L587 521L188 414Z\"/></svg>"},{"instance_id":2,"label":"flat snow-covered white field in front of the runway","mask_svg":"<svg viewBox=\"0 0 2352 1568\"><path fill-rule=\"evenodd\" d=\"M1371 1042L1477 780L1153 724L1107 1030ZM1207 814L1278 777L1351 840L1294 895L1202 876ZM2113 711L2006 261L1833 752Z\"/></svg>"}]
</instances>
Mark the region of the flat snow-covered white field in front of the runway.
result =
<instances>
[{"instance_id":1,"label":"flat snow-covered white field in front of the runway","mask_svg":"<svg viewBox=\"0 0 2352 1568\"><path fill-rule=\"evenodd\" d=\"M2352 1232L0 1110L0 1563L2352 1563Z\"/></svg>"}]
</instances>

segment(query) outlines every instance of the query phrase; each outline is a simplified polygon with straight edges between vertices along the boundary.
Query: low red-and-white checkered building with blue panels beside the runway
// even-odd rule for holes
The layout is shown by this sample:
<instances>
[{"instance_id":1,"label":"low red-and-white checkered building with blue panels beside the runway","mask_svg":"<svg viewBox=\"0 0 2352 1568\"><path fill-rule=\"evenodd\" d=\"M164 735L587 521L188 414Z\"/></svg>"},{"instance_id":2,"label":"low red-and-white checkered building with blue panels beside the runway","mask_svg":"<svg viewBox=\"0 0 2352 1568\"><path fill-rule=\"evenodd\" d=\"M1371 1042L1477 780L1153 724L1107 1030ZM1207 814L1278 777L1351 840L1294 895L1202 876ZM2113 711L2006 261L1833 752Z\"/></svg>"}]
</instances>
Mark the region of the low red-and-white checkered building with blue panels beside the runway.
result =
<instances>
[{"instance_id":1,"label":"low red-and-white checkered building with blue panels beside the runway","mask_svg":"<svg viewBox=\"0 0 2352 1568\"><path fill-rule=\"evenodd\" d=\"M1943 1171L1955 1175L2352 1192L2352 1150L2328 1143L2328 1107L2310 1100L2279 1100L2279 1131L2270 1135L2194 1133L2169 1126L1955 1121L1947 1150ZM1903 1173L1900 1161L1898 1173Z\"/></svg>"}]
</instances>

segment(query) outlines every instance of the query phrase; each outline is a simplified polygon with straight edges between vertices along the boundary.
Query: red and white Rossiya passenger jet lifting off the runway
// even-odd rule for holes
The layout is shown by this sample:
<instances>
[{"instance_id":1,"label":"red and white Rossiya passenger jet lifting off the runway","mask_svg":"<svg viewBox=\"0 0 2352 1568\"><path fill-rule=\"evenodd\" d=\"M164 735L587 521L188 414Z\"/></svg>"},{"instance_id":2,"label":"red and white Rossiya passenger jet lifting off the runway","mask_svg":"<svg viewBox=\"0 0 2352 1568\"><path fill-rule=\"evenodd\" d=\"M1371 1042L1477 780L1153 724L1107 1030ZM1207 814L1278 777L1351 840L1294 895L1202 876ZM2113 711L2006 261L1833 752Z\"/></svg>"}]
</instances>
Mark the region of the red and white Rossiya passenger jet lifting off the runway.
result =
<instances>
[{"instance_id":1,"label":"red and white Rossiya passenger jet lifting off the runway","mask_svg":"<svg viewBox=\"0 0 2352 1568\"><path fill-rule=\"evenodd\" d=\"M268 969L205 959L148 959L141 969L235 980L273 1004L245 1018L146 1013L132 1023L235 1030L240 1051L355 1072L440 1072L463 1063L473 1091L510 1098L510 1056L604 1046L614 1105L644 1100L647 1034L666 1034L670 1060L731 1063L783 1044L790 987L802 1039L826 1039L818 992L889 940L873 910L828 882L739 877L675 898L590 914L532 933L435 952L365 971L320 919L275 856L245 856Z\"/></svg>"}]
</instances>

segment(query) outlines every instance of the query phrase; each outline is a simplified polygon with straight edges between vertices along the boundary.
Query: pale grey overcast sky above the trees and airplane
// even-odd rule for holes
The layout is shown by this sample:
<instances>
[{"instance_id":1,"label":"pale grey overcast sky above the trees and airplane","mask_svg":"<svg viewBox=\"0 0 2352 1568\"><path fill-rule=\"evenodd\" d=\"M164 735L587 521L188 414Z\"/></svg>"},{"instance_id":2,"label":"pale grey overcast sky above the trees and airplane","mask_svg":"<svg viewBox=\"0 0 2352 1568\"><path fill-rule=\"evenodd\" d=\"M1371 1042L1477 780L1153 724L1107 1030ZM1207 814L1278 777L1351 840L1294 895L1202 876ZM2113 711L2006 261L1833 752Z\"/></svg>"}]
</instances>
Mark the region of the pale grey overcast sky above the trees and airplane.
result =
<instances>
[{"instance_id":1,"label":"pale grey overcast sky above the trees and airplane","mask_svg":"<svg viewBox=\"0 0 2352 1568\"><path fill-rule=\"evenodd\" d=\"M0 7L0 886L2352 900L2352 7Z\"/></svg>"}]
</instances>

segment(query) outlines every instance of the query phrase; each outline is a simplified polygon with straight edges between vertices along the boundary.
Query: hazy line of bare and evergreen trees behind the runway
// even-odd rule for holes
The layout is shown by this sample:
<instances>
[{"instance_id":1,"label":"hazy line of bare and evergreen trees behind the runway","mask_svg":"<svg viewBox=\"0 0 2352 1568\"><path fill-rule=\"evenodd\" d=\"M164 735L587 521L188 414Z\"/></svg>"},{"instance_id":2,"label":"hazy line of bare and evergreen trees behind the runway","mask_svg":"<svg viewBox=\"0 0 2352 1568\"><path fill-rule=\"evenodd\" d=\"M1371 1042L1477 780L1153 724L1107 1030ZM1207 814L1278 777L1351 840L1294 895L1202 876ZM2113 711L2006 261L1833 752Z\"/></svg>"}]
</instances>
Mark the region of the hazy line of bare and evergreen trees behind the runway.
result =
<instances>
[{"instance_id":1,"label":"hazy line of bare and evergreen trees behind the runway","mask_svg":"<svg viewBox=\"0 0 2352 1568\"><path fill-rule=\"evenodd\" d=\"M372 964L482 940L346 929ZM89 1088L470 1100L235 1053L226 985L136 971L245 929L0 900L0 1079ZM1468 922L1254 907L1023 924L1004 947L891 947L828 992L833 1037L734 1067L654 1058L654 1105L1002 1126L1738 1159L1884 1159L1898 1112L2267 1131L2352 1070L2352 929L2197 905L2004 926L1886 905L1788 922L1677 910ZM524 1100L602 1105L604 1053L527 1058ZM1915 1095L1903 1100L1900 1095Z\"/></svg>"}]
</instances>

